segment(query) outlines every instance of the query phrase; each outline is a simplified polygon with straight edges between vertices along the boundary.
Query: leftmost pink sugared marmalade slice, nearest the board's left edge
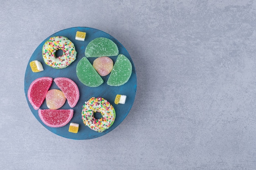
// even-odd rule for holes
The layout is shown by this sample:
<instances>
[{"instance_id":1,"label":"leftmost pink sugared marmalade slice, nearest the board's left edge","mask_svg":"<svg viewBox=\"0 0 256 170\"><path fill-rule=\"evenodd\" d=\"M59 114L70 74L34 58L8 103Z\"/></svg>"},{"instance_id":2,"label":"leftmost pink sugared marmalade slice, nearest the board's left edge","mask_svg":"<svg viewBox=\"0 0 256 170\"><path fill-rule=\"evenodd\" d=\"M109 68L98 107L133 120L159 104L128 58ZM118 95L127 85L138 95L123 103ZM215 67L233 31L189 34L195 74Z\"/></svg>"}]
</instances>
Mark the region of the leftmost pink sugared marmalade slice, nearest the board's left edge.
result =
<instances>
[{"instance_id":1,"label":"leftmost pink sugared marmalade slice, nearest the board's left edge","mask_svg":"<svg viewBox=\"0 0 256 170\"><path fill-rule=\"evenodd\" d=\"M45 100L45 95L52 85L51 77L35 79L29 86L27 97L35 110L38 110Z\"/></svg>"}]
</instances>

